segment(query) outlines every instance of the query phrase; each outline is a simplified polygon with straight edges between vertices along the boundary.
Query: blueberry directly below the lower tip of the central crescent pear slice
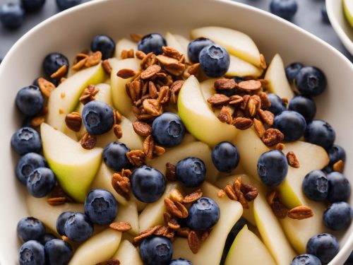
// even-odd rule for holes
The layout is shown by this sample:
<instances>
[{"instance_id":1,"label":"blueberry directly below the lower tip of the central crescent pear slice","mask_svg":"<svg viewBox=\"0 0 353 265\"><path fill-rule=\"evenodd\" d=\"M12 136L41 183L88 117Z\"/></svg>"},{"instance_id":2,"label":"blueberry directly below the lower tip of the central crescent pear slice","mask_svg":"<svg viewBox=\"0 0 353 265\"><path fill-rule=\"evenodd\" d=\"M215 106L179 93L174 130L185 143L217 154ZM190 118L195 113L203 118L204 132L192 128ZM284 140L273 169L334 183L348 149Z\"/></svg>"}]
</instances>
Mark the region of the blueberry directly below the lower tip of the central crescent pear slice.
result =
<instances>
[{"instance_id":1,"label":"blueberry directly below the lower tip of the central crescent pear slice","mask_svg":"<svg viewBox=\"0 0 353 265\"><path fill-rule=\"evenodd\" d=\"M239 164L237 147L229 142L218 143L212 150L212 162L217 170L231 172Z\"/></svg>"}]
</instances>

